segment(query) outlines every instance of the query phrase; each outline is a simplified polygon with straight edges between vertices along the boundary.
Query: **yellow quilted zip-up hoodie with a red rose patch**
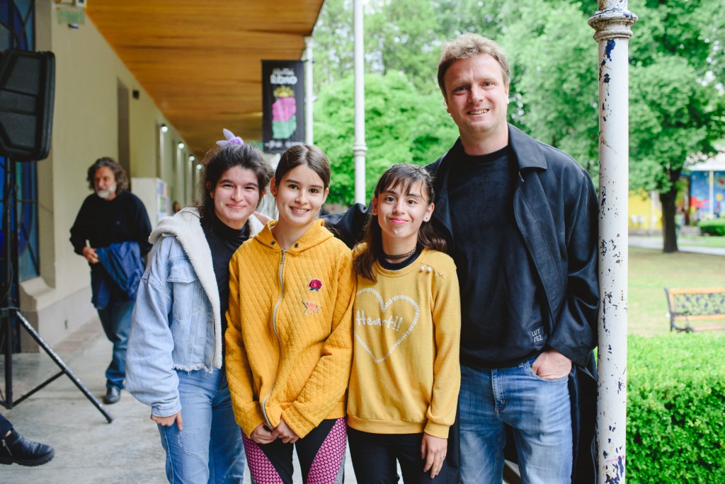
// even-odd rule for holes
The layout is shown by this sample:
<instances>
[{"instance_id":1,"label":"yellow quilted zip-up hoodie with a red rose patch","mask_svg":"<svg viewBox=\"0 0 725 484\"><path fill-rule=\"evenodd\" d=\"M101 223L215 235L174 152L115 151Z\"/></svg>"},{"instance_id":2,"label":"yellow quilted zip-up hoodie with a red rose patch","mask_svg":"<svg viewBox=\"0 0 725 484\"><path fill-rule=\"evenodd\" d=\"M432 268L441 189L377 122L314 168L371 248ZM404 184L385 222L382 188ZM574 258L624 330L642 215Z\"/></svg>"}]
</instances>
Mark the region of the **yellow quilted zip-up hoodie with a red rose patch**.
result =
<instances>
[{"instance_id":1,"label":"yellow quilted zip-up hoodie with a red rose patch","mask_svg":"<svg viewBox=\"0 0 725 484\"><path fill-rule=\"evenodd\" d=\"M281 417L300 438L344 417L355 275L347 246L315 220L283 251L269 222L229 263L226 372L249 436Z\"/></svg>"}]
</instances>

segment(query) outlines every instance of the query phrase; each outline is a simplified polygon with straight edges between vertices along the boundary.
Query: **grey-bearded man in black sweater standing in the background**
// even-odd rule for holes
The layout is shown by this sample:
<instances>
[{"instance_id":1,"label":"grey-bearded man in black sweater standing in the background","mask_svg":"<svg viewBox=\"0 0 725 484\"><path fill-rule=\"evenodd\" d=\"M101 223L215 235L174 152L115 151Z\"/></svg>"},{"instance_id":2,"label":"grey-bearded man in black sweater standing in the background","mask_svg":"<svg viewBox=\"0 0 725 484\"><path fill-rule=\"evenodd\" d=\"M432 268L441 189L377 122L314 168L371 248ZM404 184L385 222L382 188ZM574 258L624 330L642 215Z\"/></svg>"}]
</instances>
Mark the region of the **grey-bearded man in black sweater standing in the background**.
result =
<instances>
[{"instance_id":1,"label":"grey-bearded man in black sweater standing in the background","mask_svg":"<svg viewBox=\"0 0 725 484\"><path fill-rule=\"evenodd\" d=\"M97 159L88 168L87 180L94 193L80 206L70 242L75 253L91 265L93 303L113 343L104 401L115 404L124 388L126 343L138 280L144 272L141 256L151 250L151 223L141 200L126 190L128 178L113 159Z\"/></svg>"}]
</instances>

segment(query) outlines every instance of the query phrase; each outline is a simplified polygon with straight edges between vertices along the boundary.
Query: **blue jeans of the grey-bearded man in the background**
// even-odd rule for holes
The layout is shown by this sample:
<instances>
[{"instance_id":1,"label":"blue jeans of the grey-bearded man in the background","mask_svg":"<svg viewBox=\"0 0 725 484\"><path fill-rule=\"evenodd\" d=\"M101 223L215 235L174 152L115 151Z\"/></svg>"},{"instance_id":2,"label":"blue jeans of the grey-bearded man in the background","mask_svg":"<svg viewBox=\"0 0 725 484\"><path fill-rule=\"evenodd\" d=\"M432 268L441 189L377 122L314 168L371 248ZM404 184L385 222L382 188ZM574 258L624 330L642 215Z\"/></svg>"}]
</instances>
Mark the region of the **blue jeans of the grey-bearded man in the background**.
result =
<instances>
[{"instance_id":1,"label":"blue jeans of the grey-bearded man in the background","mask_svg":"<svg viewBox=\"0 0 725 484\"><path fill-rule=\"evenodd\" d=\"M123 389L123 380L126 377L126 344L131 329L133 306L135 301L123 301L109 304L104 309L98 309L101 326L106 333L108 341L113 343L111 364L106 370L106 387Z\"/></svg>"}]
</instances>

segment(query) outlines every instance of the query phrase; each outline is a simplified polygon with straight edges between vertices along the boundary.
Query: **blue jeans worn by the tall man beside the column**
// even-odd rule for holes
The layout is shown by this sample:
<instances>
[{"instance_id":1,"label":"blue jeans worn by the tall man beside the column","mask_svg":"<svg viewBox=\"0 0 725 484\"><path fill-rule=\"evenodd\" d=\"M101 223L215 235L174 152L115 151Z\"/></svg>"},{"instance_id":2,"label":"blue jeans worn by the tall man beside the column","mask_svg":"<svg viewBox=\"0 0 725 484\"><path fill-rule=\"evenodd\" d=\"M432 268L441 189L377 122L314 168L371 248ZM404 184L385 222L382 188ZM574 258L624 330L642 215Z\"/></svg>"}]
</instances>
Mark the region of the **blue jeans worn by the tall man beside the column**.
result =
<instances>
[{"instance_id":1,"label":"blue jeans worn by the tall man beside the column","mask_svg":"<svg viewBox=\"0 0 725 484\"><path fill-rule=\"evenodd\" d=\"M502 482L509 425L523 483L571 483L568 377L538 377L531 370L534 359L509 368L461 365L461 482Z\"/></svg>"}]
</instances>

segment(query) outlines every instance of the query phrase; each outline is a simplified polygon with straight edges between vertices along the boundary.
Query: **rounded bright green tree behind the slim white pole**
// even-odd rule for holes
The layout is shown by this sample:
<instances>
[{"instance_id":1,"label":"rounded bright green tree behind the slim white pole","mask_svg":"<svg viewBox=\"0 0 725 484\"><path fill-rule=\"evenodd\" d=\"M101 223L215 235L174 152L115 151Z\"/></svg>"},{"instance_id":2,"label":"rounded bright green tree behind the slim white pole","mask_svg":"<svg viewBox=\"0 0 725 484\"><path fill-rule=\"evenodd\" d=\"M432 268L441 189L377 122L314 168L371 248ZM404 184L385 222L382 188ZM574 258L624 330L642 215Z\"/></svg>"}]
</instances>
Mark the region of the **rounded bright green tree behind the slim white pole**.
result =
<instances>
[{"instance_id":1,"label":"rounded bright green tree behind the slim white pole","mask_svg":"<svg viewBox=\"0 0 725 484\"><path fill-rule=\"evenodd\" d=\"M352 204L355 196L355 106L352 75L327 85L315 103L315 144L330 158L328 200ZM399 72L365 76L366 193L391 164L428 164L446 151L457 128L440 93L421 95Z\"/></svg>"}]
</instances>

